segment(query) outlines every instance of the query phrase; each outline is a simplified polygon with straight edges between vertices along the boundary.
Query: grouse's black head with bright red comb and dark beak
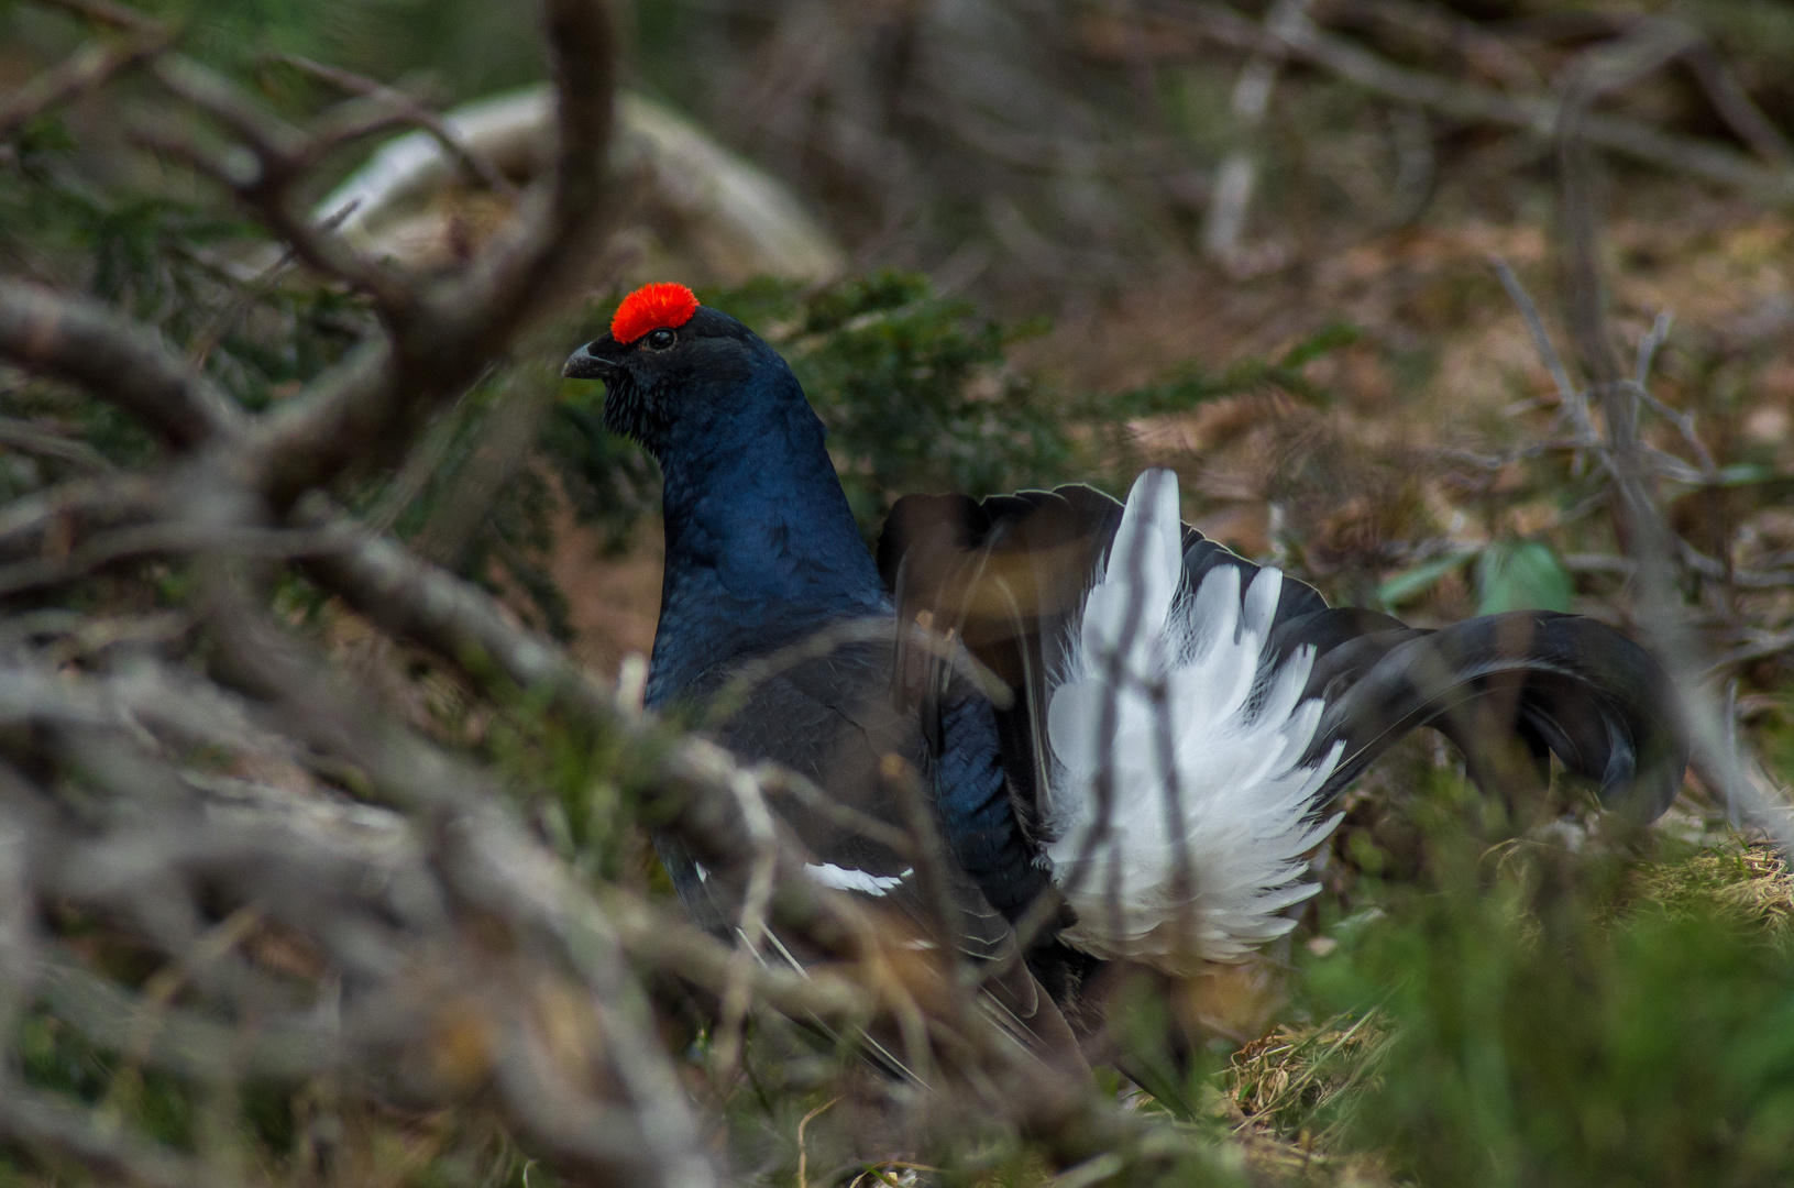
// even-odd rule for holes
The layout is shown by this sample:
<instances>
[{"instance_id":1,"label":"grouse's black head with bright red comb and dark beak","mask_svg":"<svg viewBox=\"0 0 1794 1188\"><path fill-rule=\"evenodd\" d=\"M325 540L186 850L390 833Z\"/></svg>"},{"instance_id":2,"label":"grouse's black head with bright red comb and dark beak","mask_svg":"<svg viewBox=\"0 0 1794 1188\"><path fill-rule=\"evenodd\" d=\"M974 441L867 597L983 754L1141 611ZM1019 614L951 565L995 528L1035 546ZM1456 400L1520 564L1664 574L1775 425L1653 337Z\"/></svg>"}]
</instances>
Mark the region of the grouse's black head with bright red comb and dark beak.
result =
<instances>
[{"instance_id":1,"label":"grouse's black head with bright red comb and dark beak","mask_svg":"<svg viewBox=\"0 0 1794 1188\"><path fill-rule=\"evenodd\" d=\"M793 395L804 404L771 346L675 284L626 296L610 334L572 352L562 375L605 380L605 427L662 461L682 438L714 440Z\"/></svg>"}]
</instances>

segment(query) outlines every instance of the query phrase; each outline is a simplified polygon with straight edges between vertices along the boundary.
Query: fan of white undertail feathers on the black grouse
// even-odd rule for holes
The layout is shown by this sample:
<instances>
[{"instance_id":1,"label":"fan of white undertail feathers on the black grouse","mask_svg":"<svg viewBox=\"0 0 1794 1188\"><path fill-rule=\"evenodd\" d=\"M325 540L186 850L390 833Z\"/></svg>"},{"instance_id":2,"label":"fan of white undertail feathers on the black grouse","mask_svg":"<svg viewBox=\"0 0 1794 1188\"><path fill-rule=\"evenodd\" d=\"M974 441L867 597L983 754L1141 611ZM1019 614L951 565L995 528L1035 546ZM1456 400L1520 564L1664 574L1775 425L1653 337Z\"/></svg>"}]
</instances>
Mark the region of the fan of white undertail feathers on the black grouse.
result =
<instances>
[{"instance_id":1,"label":"fan of white undertail feathers on the black grouse","mask_svg":"<svg viewBox=\"0 0 1794 1188\"><path fill-rule=\"evenodd\" d=\"M1182 565L1177 476L1148 470L1048 691L1046 852L1078 912L1066 940L1173 971L1295 926L1285 908L1317 890L1306 854L1338 824L1313 797L1340 759L1337 745L1301 764L1322 711L1301 700L1313 648L1259 673L1283 574L1261 569L1241 599L1241 571L1216 565L1180 598Z\"/></svg>"}]
</instances>

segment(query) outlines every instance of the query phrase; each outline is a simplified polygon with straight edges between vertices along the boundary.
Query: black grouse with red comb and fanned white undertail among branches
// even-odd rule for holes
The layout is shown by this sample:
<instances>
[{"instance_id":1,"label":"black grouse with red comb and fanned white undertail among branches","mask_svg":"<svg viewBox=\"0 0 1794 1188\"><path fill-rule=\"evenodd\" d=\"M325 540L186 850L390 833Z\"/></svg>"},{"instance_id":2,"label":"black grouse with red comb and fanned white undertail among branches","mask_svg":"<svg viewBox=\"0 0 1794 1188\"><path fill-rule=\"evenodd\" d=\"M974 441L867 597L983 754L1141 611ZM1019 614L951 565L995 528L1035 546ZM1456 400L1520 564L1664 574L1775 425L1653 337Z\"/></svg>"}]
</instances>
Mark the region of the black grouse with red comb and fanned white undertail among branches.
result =
<instances>
[{"instance_id":1,"label":"black grouse with red comb and fanned white undertail among branches","mask_svg":"<svg viewBox=\"0 0 1794 1188\"><path fill-rule=\"evenodd\" d=\"M630 294L565 373L601 379L606 425L662 467L649 707L710 703L718 741L890 824L913 773L951 851L960 948L999 958L1021 926L1032 976L997 980L994 1001L1048 1046L1064 1018L1093 1025L1078 987L1102 962L1180 973L1286 933L1329 806L1414 727L1516 802L1552 756L1638 820L1681 784L1665 671L1591 619L1419 630L1331 608L1180 524L1166 470L1127 502L910 495L874 556L791 370L682 285ZM840 815L780 811L818 883L926 935L906 858ZM687 908L728 935L734 892L658 845Z\"/></svg>"}]
</instances>

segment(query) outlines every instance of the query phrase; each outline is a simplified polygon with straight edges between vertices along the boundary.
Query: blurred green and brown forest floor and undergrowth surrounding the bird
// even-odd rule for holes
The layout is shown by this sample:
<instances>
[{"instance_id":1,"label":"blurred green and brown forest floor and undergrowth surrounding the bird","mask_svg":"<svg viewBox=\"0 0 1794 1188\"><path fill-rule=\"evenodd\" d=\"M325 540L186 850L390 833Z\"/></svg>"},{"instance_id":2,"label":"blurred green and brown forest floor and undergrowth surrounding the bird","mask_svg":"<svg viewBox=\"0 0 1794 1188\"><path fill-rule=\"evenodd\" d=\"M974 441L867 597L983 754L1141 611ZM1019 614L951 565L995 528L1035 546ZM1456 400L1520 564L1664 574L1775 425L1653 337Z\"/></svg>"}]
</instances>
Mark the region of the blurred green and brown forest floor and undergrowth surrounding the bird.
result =
<instances>
[{"instance_id":1,"label":"blurred green and brown forest floor and undergrowth surrounding the bird","mask_svg":"<svg viewBox=\"0 0 1794 1188\"><path fill-rule=\"evenodd\" d=\"M332 93L282 56L434 104L540 75L520 0L140 7L289 113ZM786 354L868 535L904 492L1118 490L1163 463L1206 531L1331 598L1415 623L1512 607L1624 623L1629 572L1598 467L1561 443L1563 407L1487 262L1511 260L1543 305L1555 296L1548 142L1299 63L1247 127L1232 109L1243 54L1186 36L1198 7L619 5L630 86L777 176L852 260L827 280L743 282L644 233L624 271L671 260ZM1672 14L1794 135L1785 2L1322 0L1311 13L1389 63L1516 93L1548 92L1625 22ZM0 93L79 36L61 14L0 0ZM1744 147L1685 72L1607 109ZM1231 257L1206 258L1215 178L1241 151L1259 178L1247 230ZM325 181L361 160L344 153ZM1695 418L1711 456L1703 468L1677 425L1645 411L1652 447L1688 470L1663 494L1697 555L1686 594L1715 687L1789 781L1794 223L1785 205L1627 162L1613 165L1607 201L1620 336L1636 346L1658 312L1677 310L1652 391ZM249 407L296 391L370 319L81 104L0 142L0 266L156 325ZM651 632L658 476L603 431L597 386L562 384L553 361L603 330L621 291L592 294L529 352L497 361L400 472L339 492L606 675ZM151 449L108 406L13 373L0 373L0 415L41 436L5 441L4 501ZM477 501L470 524L457 499ZM457 678L366 644L346 612L300 587L289 596L294 617L344 651L366 648L386 696L418 723L499 756L581 870L666 890L605 739L569 738L527 700L479 705ZM1649 836L1607 836L1581 811L1536 825L1476 802L1453 759L1417 741L1346 809L1326 894L1288 949L1204 987L1152 987L1127 1028L1143 1055L1182 1057L1159 1059L1159 1100L1130 1100L1213 1141L1213 1166L1186 1183L1787 1183L1794 883L1708 790L1692 786ZM93 948L133 983L152 978L127 951ZM831 1183L870 1183L870 1170L884 1183L1042 1183L1024 1149L1001 1143L917 1172L874 1150L872 1131L856 1134L865 1116L845 1105L800 1147L798 1120L829 1102L834 1057L768 1025L748 1079L709 1086L703 1005L660 989L666 1030L691 1050L692 1093L728 1120L755 1183L798 1183L800 1156L811 1172L847 1168ZM230 1149L237 1166L294 1184L553 1183L477 1096L429 1116L334 1084L221 1096L140 1070L124 1043L84 1039L59 1021L70 1009L25 1014L23 1075L174 1147ZM0 1183L65 1172L0 1157Z\"/></svg>"}]
</instances>

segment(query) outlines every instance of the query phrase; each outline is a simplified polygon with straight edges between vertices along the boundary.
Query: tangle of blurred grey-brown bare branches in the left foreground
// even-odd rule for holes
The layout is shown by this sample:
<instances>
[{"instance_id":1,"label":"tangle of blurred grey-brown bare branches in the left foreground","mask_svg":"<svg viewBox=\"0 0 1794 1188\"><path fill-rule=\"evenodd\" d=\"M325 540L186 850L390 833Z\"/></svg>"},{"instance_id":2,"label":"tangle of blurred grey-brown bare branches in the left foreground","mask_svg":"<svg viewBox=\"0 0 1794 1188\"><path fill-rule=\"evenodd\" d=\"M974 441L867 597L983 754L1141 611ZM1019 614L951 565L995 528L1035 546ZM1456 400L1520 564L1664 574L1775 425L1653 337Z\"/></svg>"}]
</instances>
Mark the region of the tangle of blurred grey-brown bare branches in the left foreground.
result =
<instances>
[{"instance_id":1,"label":"tangle of blurred grey-brown bare branches in the left foreground","mask_svg":"<svg viewBox=\"0 0 1794 1188\"><path fill-rule=\"evenodd\" d=\"M0 1134L52 1170L240 1183L253 1177L237 1104L330 1086L318 1109L343 1116L477 1102L574 1183L701 1188L723 1175L718 1120L660 1030L655 987L676 983L723 1005L721 1077L739 1025L784 1016L849 1052L895 1037L927 1084L886 1091L920 1132L963 1129L967 1111L942 1104L967 1095L980 1127L1026 1134L1055 1163L1188 1156L1089 1086L1042 1077L1026 1043L971 1007L953 958L919 958L806 874L766 806L820 800L814 788L642 714L492 594L343 510L594 282L615 205L606 7L545 0L553 92L533 104L553 111L551 165L461 267L438 273L377 257L344 233L346 210L318 217L301 194L327 156L400 126L492 174L452 122L309 59L289 65L350 97L289 118L170 48L147 16L65 7L144 38L135 61L156 106L120 126L161 167L217 187L276 251L226 289L197 346L0 278L0 359L145 436L136 461L113 467L0 427L72 468L0 511L0 1025L16 1046L41 1021L109 1070L97 1093L9 1086ZM84 70L83 86L109 77ZM30 93L68 97L59 79ZM278 400L249 406L221 382L217 346L294 262L350 310L353 334ZM526 418L513 454L533 429ZM330 599L332 616L445 660L481 712L544 750L606 756L588 784L628 790L615 825L664 829L709 878L752 892L741 928L766 937L766 960L581 865L531 817L542 788L518 791L529 781L501 747L407 716L294 599ZM920 827L904 843L940 845ZM788 946L809 965L780 964ZM163 1082L201 1114L185 1138L145 1134L129 1109Z\"/></svg>"}]
</instances>

